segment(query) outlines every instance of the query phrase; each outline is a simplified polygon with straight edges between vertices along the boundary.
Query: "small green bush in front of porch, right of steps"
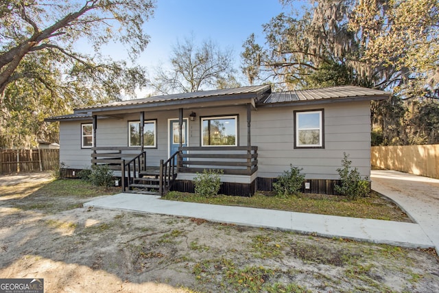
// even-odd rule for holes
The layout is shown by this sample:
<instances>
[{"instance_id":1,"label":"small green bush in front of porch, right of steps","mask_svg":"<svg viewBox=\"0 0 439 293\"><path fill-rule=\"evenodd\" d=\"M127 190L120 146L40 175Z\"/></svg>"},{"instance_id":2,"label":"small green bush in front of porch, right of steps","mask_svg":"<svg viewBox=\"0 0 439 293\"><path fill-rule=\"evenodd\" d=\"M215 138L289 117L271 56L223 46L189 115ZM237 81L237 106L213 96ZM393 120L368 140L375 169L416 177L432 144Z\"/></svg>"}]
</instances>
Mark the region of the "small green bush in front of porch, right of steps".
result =
<instances>
[{"instance_id":1,"label":"small green bush in front of porch, right of steps","mask_svg":"<svg viewBox=\"0 0 439 293\"><path fill-rule=\"evenodd\" d=\"M195 185L195 194L198 196L213 197L217 196L221 187L222 170L204 169L202 174L197 173L193 178Z\"/></svg>"}]
</instances>

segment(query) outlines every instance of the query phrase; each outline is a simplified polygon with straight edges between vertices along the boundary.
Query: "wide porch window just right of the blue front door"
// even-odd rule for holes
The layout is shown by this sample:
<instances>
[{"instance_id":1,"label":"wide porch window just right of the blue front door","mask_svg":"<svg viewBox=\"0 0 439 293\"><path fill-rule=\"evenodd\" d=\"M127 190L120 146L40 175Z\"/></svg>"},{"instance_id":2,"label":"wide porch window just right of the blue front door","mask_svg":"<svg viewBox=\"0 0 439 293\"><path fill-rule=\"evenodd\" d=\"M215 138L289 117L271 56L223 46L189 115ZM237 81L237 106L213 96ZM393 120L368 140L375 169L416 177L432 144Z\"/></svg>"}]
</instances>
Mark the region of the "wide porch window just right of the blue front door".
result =
<instances>
[{"instance_id":1,"label":"wide porch window just right of the blue front door","mask_svg":"<svg viewBox=\"0 0 439 293\"><path fill-rule=\"evenodd\" d=\"M237 116L202 118L202 146L237 145Z\"/></svg>"}]
</instances>

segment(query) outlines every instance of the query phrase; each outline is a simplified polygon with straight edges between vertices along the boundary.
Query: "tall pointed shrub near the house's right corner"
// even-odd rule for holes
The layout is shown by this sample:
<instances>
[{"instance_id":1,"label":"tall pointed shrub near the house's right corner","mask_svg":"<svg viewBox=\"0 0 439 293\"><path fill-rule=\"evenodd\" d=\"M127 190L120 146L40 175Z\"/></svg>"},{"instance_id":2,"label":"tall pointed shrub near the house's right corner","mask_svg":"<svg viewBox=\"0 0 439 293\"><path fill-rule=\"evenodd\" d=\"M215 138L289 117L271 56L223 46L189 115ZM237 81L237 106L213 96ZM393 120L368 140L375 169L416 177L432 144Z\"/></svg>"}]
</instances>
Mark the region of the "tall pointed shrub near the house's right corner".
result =
<instances>
[{"instance_id":1,"label":"tall pointed shrub near the house's right corner","mask_svg":"<svg viewBox=\"0 0 439 293\"><path fill-rule=\"evenodd\" d=\"M343 153L342 167L337 169L342 185L335 185L334 189L342 196L347 196L350 200L367 196L370 193L368 177L361 178L358 169L351 169L352 161L349 155Z\"/></svg>"}]
</instances>

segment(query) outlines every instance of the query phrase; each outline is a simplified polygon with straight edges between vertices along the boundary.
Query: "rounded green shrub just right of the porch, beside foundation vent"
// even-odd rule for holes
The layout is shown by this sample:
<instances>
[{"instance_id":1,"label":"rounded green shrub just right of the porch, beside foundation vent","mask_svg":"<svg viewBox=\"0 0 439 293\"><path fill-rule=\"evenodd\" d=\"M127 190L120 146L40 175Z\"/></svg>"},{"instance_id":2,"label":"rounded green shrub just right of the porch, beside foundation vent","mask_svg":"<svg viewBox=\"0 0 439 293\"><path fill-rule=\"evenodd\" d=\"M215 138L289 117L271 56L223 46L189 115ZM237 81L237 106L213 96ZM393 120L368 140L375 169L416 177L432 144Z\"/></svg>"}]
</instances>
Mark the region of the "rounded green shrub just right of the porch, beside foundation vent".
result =
<instances>
[{"instance_id":1,"label":"rounded green shrub just right of the porch, beside foundation vent","mask_svg":"<svg viewBox=\"0 0 439 293\"><path fill-rule=\"evenodd\" d=\"M278 176L277 181L273 183L273 190L276 196L297 196L305 182L305 174L300 174L302 168L293 167L292 164L289 164L289 167L290 169L284 171L281 176Z\"/></svg>"}]
</instances>

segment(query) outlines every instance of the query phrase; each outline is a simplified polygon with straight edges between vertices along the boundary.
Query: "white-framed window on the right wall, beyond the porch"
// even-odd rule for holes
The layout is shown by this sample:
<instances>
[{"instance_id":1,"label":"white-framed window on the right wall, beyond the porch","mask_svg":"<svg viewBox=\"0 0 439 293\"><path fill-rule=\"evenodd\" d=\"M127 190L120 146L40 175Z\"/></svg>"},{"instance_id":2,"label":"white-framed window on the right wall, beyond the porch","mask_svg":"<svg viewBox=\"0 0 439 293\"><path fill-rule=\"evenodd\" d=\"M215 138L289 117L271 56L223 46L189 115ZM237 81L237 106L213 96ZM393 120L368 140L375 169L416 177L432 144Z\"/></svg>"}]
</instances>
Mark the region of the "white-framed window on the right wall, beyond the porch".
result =
<instances>
[{"instance_id":1,"label":"white-framed window on the right wall, beyond the porch","mask_svg":"<svg viewBox=\"0 0 439 293\"><path fill-rule=\"evenodd\" d=\"M324 148L323 110L294 111L294 148Z\"/></svg>"}]
</instances>

